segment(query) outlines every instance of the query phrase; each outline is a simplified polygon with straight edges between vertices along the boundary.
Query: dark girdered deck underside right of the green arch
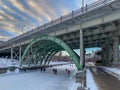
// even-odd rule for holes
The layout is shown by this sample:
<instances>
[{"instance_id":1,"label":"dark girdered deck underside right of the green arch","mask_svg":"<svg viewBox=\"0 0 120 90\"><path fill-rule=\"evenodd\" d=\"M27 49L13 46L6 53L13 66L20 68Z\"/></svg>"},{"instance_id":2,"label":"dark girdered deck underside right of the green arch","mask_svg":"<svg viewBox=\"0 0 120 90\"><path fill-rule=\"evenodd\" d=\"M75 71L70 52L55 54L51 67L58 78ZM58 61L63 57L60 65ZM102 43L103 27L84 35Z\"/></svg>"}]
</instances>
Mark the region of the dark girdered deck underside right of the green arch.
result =
<instances>
[{"instance_id":1,"label":"dark girdered deck underside right of the green arch","mask_svg":"<svg viewBox=\"0 0 120 90\"><path fill-rule=\"evenodd\" d=\"M114 37L119 36L119 30L120 20L83 29L85 48L102 47L106 42L113 43ZM80 48L80 30L59 35L58 38L73 49Z\"/></svg>"}]
</instances>

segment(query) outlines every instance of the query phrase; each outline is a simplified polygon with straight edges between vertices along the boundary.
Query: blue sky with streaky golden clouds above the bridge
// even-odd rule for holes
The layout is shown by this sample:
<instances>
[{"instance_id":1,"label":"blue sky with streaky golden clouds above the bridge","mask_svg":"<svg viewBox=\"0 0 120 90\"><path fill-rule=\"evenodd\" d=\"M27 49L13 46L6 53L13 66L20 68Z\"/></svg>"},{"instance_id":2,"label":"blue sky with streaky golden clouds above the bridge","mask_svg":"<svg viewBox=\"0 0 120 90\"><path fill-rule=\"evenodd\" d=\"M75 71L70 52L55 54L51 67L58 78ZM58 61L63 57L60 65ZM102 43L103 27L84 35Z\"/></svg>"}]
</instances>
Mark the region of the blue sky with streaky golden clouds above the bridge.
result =
<instances>
[{"instance_id":1,"label":"blue sky with streaky golden clouds above the bridge","mask_svg":"<svg viewBox=\"0 0 120 90\"><path fill-rule=\"evenodd\" d=\"M90 4L95 0L85 0ZM0 0L0 41L81 7L81 0Z\"/></svg>"}]
</instances>

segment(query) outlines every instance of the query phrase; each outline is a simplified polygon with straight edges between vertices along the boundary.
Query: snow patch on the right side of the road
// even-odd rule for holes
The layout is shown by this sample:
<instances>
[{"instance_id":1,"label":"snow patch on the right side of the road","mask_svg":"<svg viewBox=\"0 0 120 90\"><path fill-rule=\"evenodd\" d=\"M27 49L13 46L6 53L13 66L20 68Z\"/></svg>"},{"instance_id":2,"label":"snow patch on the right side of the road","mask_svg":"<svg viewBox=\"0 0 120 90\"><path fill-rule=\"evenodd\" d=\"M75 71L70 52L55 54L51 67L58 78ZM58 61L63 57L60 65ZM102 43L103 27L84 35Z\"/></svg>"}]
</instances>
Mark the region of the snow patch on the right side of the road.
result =
<instances>
[{"instance_id":1,"label":"snow patch on the right side of the road","mask_svg":"<svg viewBox=\"0 0 120 90\"><path fill-rule=\"evenodd\" d=\"M102 67L103 70L114 77L118 78L120 80L120 68L117 67Z\"/></svg>"}]
</instances>

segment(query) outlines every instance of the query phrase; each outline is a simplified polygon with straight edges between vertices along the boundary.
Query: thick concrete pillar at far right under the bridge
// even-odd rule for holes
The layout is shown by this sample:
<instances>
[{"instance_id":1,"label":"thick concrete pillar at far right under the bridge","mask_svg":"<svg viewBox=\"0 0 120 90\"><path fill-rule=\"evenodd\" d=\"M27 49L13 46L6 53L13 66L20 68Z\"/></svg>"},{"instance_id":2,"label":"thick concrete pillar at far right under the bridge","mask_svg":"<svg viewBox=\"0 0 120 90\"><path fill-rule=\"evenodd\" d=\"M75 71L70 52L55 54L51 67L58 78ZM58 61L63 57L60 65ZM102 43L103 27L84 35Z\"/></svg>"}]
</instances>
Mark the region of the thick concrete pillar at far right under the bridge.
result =
<instances>
[{"instance_id":1,"label":"thick concrete pillar at far right under the bridge","mask_svg":"<svg viewBox=\"0 0 120 90\"><path fill-rule=\"evenodd\" d=\"M114 38L114 54L113 54L113 64L115 66L119 65L119 37Z\"/></svg>"}]
</instances>

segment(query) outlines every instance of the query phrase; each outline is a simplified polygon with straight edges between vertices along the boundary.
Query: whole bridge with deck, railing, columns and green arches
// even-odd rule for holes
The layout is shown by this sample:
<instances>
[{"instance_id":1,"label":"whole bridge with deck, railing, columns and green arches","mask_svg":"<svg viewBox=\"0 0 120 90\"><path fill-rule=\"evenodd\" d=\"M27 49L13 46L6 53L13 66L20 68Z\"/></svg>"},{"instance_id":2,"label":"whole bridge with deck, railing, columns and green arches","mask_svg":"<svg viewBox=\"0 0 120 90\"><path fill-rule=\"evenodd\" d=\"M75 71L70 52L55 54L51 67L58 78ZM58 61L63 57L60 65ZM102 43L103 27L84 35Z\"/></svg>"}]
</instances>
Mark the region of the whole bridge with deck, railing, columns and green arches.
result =
<instances>
[{"instance_id":1,"label":"whole bridge with deck, railing, columns and green arches","mask_svg":"<svg viewBox=\"0 0 120 90\"><path fill-rule=\"evenodd\" d=\"M18 58L21 64L30 61L27 62L30 65L46 63L44 58L49 63L45 56L51 58L54 53L67 50L80 70L84 62L84 49L100 47L106 64L118 66L119 36L120 1L99 0L4 42L0 45L0 53L9 53L11 59ZM38 47L41 48L36 51ZM79 48L80 60L72 50Z\"/></svg>"}]
</instances>

